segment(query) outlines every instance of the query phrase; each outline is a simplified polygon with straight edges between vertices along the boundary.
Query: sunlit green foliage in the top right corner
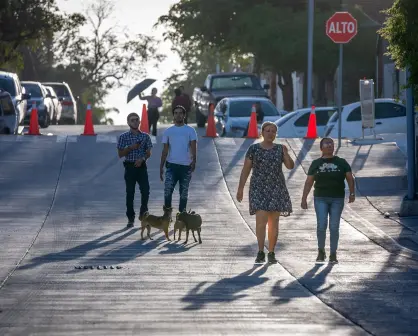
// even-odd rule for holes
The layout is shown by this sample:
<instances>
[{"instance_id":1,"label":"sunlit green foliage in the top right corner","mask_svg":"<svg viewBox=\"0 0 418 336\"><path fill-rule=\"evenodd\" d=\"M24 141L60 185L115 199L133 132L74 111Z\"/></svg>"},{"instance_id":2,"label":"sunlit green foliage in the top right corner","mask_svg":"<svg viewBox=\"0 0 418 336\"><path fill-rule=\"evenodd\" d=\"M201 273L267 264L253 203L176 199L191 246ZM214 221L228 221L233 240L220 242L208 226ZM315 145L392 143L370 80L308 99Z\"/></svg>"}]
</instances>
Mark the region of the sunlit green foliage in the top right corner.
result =
<instances>
[{"instance_id":1,"label":"sunlit green foliage in the top right corner","mask_svg":"<svg viewBox=\"0 0 418 336\"><path fill-rule=\"evenodd\" d=\"M379 34L389 42L387 54L400 69L409 67L408 85L418 83L418 1L396 0Z\"/></svg>"}]
</instances>

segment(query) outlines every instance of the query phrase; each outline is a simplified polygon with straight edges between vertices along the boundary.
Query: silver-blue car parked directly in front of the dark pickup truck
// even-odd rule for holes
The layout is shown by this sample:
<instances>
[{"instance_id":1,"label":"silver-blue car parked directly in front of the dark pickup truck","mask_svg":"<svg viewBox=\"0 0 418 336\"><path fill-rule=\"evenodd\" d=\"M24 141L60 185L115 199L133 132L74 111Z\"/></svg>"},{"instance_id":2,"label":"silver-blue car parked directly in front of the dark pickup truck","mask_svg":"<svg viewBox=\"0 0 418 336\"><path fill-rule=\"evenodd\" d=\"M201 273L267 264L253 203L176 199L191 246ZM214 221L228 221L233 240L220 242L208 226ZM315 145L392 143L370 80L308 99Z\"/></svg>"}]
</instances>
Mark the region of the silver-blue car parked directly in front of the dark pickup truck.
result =
<instances>
[{"instance_id":1,"label":"silver-blue car parked directly in front of the dark pickup truck","mask_svg":"<svg viewBox=\"0 0 418 336\"><path fill-rule=\"evenodd\" d=\"M254 104L260 103L264 121L276 121L280 111L265 97L229 97L215 107L215 125L220 136L242 137L251 118ZM260 127L260 125L259 125Z\"/></svg>"}]
</instances>

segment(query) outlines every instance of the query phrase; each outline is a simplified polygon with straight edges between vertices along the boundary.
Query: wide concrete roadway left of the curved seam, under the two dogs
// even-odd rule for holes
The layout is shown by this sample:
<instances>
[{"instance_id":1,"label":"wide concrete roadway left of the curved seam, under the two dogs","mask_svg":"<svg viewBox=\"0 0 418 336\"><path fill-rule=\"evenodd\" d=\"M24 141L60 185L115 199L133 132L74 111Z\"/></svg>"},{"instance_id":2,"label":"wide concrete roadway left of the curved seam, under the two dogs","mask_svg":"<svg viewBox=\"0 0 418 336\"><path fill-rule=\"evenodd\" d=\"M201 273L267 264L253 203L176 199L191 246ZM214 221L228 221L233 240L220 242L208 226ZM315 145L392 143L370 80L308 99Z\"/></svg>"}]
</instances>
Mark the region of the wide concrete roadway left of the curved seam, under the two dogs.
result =
<instances>
[{"instance_id":1,"label":"wide concrete roadway left of the curved seam, under the two dogs","mask_svg":"<svg viewBox=\"0 0 418 336\"><path fill-rule=\"evenodd\" d=\"M7 281L0 289L1 335L368 334L312 294L322 291L328 297L335 293L335 288L330 292L327 287L329 279L335 279L330 274L336 271L314 265L313 256L305 253L311 246L300 242L311 233L303 225L296 239L287 241L288 256L279 254L282 265L254 266L256 239L234 206L212 139L200 138L188 204L203 216L203 243L196 244L190 237L186 246L166 242L155 229L153 241L141 241L138 222L134 229L125 229L123 168L115 144L97 143L94 138L55 143L51 146L57 146L56 155L48 156L51 147L46 141L50 140L32 139L13 143L19 150L9 152L9 169L0 171L0 190L12 188L19 178L19 153L30 151L37 153L31 160L48 157L47 173L52 179L55 176L56 186L45 185L47 199L42 203L38 195L36 200L43 220L26 219L26 227L10 229L24 213L18 202L35 202L27 192L39 188L35 182L16 185L13 190L20 199L11 199L10 206L21 212L3 214L6 218L0 230L9 229L8 239L20 248L10 250L18 263L16 270L10 267L10 259L0 259L1 268L8 267ZM162 214L163 204L159 141L148 162L153 214ZM32 179L44 177L41 167L32 172ZM177 204L178 189L175 209ZM359 233L350 239L361 245L366 241ZM297 257L291 258L295 252ZM380 261L374 262L375 258L382 256L370 258L367 267L377 272ZM1 276L3 281L5 274ZM337 279L341 285L331 283L331 287L343 287L342 295L351 293L347 287L359 286L352 278L351 284L345 277ZM346 297L340 304L347 307L352 299ZM404 331L410 330L408 323Z\"/></svg>"}]
</instances>

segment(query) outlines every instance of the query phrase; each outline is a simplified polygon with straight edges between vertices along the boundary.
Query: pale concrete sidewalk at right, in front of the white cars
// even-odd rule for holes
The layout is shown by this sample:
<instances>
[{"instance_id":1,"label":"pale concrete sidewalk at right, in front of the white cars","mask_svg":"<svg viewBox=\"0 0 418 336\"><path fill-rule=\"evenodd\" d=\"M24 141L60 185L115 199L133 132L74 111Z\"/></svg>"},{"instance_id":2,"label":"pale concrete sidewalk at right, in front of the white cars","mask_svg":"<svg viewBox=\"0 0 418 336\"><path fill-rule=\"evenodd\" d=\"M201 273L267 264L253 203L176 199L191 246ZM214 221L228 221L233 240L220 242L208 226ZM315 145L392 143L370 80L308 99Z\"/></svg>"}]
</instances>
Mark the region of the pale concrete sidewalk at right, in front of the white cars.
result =
<instances>
[{"instance_id":1,"label":"pale concrete sidewalk at right, in front of the white cars","mask_svg":"<svg viewBox=\"0 0 418 336\"><path fill-rule=\"evenodd\" d=\"M321 155L319 140L288 139L286 143L305 173L312 160ZM350 163L356 176L356 202L347 207L350 213L346 211L344 218L389 250L397 249L393 244L389 247L390 237L418 251L418 220L397 215L407 185L405 157L396 144L354 145L345 140L336 154ZM386 218L385 213L389 213L390 218Z\"/></svg>"}]
</instances>

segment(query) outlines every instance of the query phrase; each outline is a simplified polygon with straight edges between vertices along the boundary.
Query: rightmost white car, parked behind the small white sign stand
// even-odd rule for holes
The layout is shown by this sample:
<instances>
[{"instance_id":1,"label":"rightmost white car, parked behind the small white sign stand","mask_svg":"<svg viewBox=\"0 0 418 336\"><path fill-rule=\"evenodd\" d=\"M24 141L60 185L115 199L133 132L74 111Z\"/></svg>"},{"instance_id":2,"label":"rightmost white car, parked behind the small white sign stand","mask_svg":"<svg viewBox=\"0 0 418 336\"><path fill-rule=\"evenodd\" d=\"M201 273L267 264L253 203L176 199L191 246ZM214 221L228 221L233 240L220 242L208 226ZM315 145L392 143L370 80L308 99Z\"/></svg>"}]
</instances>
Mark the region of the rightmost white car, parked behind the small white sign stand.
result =
<instances>
[{"instance_id":1,"label":"rightmost white car, parked behind the small white sign stand","mask_svg":"<svg viewBox=\"0 0 418 336\"><path fill-rule=\"evenodd\" d=\"M341 112L341 137L360 138L363 135L360 102L345 105ZM390 98L375 99L375 134L406 133L406 107ZM364 135L373 135L365 129ZM338 111L330 118L324 136L338 138Z\"/></svg>"}]
</instances>

